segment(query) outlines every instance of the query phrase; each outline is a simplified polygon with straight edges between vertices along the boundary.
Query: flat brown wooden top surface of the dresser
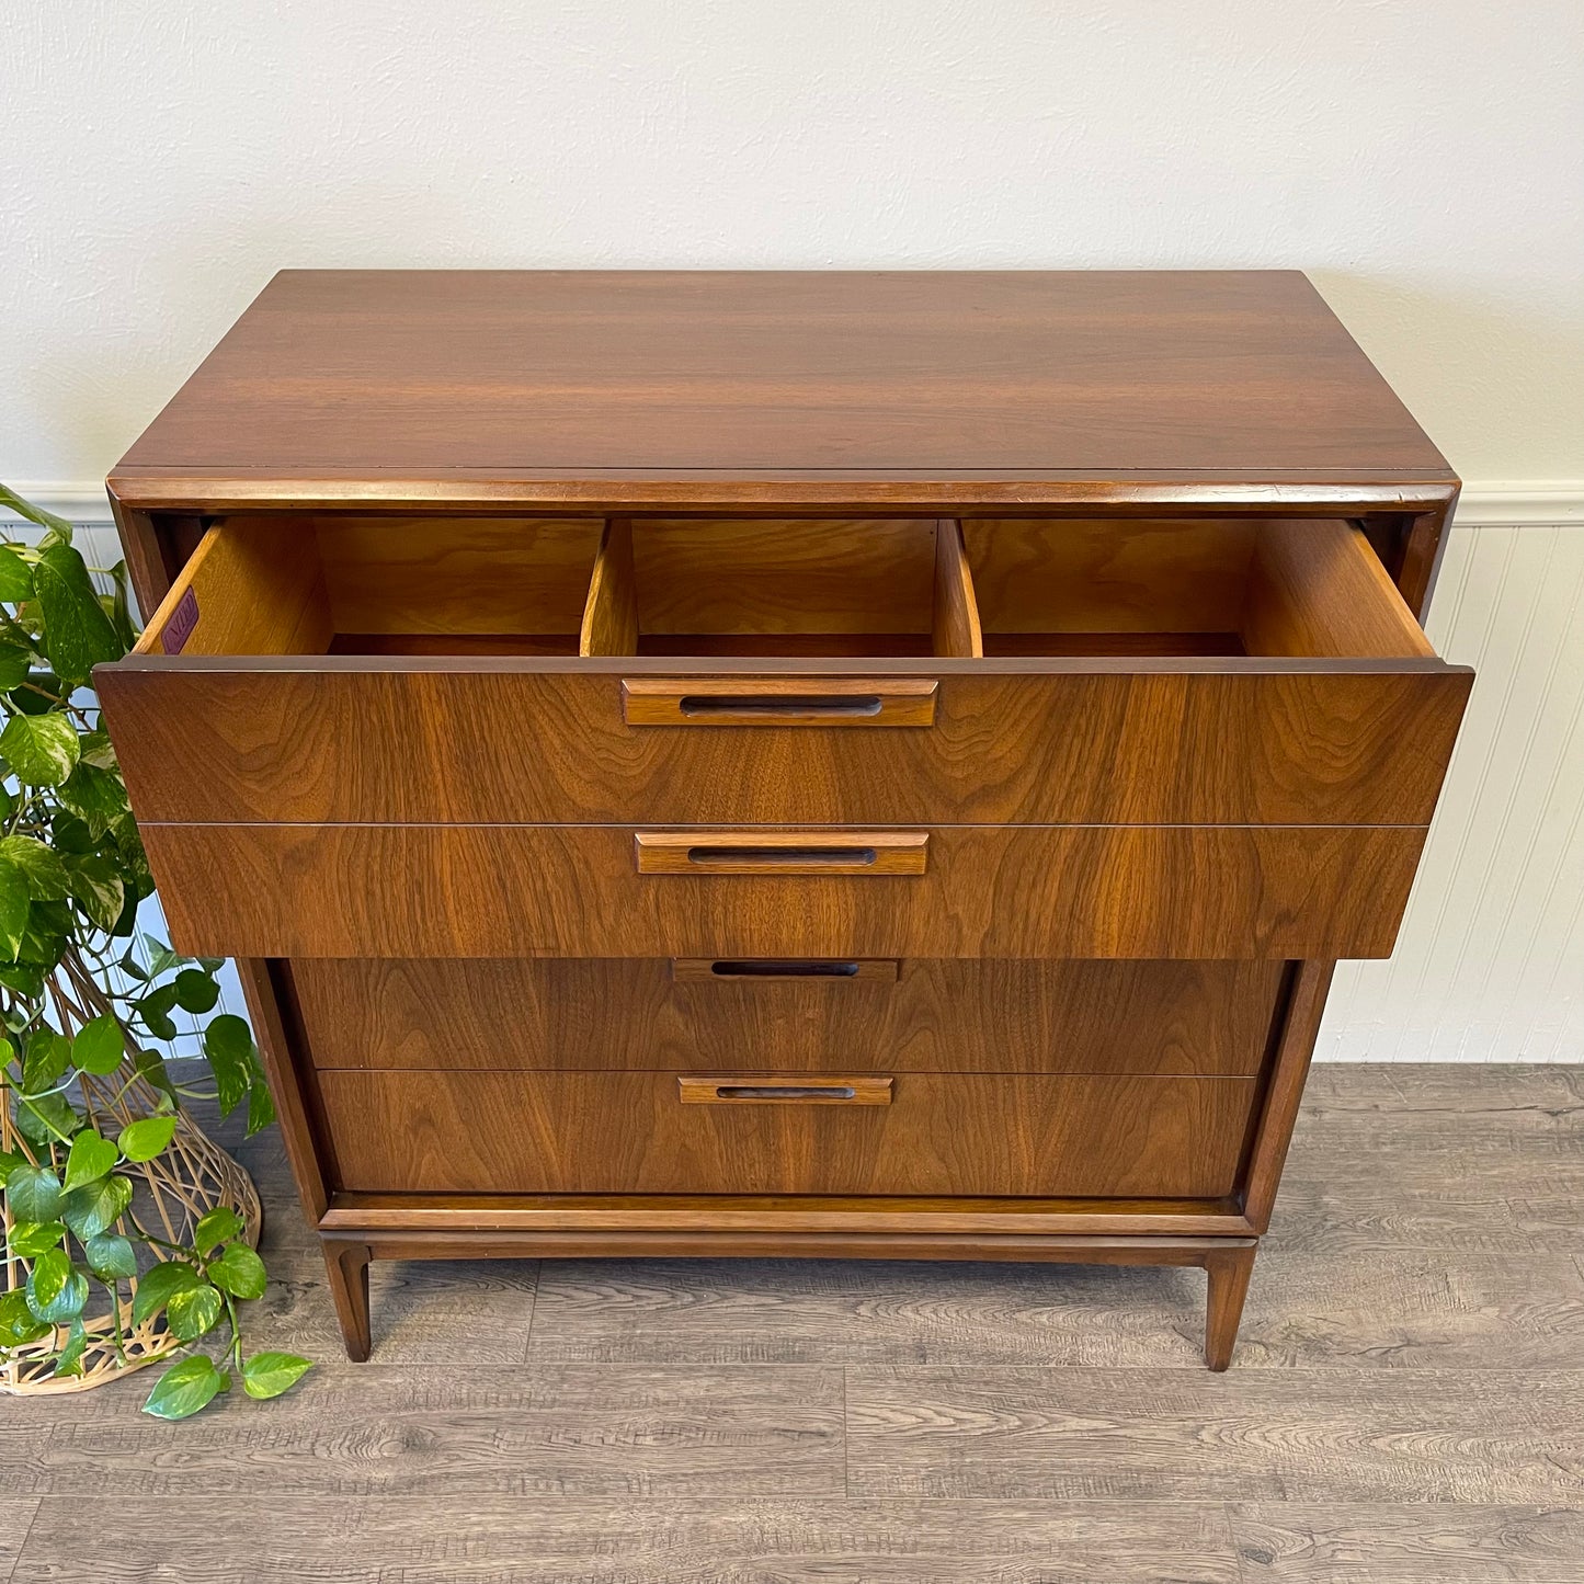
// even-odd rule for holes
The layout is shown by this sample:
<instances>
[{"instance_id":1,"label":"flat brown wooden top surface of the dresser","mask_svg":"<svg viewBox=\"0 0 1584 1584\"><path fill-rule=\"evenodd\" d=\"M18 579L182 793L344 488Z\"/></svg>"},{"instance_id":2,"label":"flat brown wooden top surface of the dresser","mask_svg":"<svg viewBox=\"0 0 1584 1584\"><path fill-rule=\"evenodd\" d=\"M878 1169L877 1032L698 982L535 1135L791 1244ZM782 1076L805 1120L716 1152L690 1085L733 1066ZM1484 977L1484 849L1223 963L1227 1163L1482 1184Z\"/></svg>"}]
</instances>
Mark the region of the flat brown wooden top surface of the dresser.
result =
<instances>
[{"instance_id":1,"label":"flat brown wooden top surface of the dresser","mask_svg":"<svg viewBox=\"0 0 1584 1584\"><path fill-rule=\"evenodd\" d=\"M348 269L276 276L111 483L174 508L836 478L1453 474L1296 271Z\"/></svg>"}]
</instances>

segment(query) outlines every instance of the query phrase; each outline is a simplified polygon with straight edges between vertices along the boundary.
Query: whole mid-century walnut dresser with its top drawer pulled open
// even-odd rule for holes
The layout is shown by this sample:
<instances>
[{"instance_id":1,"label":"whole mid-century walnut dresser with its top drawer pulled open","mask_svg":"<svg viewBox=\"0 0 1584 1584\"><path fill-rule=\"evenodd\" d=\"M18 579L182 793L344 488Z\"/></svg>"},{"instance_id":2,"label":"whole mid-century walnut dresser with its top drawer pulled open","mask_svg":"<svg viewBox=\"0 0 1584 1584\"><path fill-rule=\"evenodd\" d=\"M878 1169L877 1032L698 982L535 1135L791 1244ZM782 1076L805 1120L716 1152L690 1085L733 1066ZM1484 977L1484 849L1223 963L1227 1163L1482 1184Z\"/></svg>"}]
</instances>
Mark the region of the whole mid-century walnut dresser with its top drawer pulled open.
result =
<instances>
[{"instance_id":1,"label":"whole mid-century walnut dresser with its top drawer pulled open","mask_svg":"<svg viewBox=\"0 0 1584 1584\"><path fill-rule=\"evenodd\" d=\"M367 1262L1202 1266L1470 687L1293 272L285 272L109 480L103 699Z\"/></svg>"}]
</instances>

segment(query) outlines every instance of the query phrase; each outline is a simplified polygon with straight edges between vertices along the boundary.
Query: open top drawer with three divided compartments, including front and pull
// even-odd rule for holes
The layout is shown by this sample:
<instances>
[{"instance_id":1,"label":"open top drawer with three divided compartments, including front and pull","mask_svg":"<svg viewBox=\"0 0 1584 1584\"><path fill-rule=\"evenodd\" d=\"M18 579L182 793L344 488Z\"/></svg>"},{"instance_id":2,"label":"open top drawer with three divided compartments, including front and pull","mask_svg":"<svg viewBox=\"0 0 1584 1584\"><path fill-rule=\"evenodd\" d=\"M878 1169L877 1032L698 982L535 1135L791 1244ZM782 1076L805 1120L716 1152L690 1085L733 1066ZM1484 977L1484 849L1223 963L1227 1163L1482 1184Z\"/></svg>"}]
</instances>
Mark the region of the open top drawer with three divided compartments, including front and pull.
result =
<instances>
[{"instance_id":1,"label":"open top drawer with three divided compartments, including front and pull","mask_svg":"<svg viewBox=\"0 0 1584 1584\"><path fill-rule=\"evenodd\" d=\"M306 516L97 683L146 824L1422 825L1470 673L1342 521Z\"/></svg>"}]
</instances>

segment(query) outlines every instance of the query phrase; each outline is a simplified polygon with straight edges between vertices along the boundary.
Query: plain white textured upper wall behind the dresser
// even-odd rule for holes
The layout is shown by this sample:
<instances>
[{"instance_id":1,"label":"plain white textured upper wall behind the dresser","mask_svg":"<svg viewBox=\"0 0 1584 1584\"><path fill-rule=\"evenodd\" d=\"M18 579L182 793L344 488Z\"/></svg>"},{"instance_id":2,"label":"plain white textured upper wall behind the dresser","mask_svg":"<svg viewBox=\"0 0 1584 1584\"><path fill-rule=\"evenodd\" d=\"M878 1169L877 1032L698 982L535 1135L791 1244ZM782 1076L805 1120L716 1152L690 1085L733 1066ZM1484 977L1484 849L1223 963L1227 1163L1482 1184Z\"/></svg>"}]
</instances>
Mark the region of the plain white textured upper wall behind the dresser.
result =
<instances>
[{"instance_id":1,"label":"plain white textured upper wall behind the dresser","mask_svg":"<svg viewBox=\"0 0 1584 1584\"><path fill-rule=\"evenodd\" d=\"M1584 475L1579 0L22 0L0 477L282 265L1310 269L1472 480Z\"/></svg>"}]
</instances>

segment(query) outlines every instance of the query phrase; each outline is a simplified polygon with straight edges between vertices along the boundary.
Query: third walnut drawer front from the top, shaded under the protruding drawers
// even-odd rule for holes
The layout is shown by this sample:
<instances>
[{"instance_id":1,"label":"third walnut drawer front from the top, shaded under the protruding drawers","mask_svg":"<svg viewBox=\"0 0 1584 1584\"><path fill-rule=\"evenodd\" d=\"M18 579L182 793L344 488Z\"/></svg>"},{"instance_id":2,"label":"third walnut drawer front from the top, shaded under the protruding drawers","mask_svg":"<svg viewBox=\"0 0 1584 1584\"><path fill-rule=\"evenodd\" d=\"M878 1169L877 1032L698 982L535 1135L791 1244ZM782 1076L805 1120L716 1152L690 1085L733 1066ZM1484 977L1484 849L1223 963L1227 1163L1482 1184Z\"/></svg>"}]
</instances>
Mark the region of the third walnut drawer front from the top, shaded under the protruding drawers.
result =
<instances>
[{"instance_id":1,"label":"third walnut drawer front from the top, shaded under the protruding drawers","mask_svg":"<svg viewBox=\"0 0 1584 1584\"><path fill-rule=\"evenodd\" d=\"M993 958L730 973L776 966L789 965L299 958L290 973L320 1069L1223 1076L1259 1072L1285 976L1281 963Z\"/></svg>"}]
</instances>

